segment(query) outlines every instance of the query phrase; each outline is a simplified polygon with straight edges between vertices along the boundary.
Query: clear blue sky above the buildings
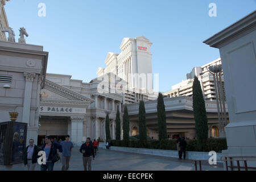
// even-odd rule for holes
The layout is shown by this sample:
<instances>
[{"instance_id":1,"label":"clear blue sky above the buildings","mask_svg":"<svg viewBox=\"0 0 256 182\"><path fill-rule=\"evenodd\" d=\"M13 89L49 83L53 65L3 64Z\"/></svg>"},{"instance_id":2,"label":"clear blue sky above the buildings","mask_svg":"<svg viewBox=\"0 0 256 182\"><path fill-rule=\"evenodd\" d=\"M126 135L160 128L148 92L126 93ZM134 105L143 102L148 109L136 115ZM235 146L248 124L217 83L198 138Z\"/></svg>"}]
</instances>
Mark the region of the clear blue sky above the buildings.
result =
<instances>
[{"instance_id":1,"label":"clear blue sky above the buildings","mask_svg":"<svg viewBox=\"0 0 256 182\"><path fill-rule=\"evenodd\" d=\"M46 4L46 17L38 4ZM209 3L217 17L210 17ZM11 0L5 6L9 25L25 27L28 44L49 52L48 73L89 82L105 68L108 52L120 53L123 38L146 36L152 44L152 71L159 91L186 79L193 67L217 59L218 49L203 41L250 14L255 0Z\"/></svg>"}]
</instances>

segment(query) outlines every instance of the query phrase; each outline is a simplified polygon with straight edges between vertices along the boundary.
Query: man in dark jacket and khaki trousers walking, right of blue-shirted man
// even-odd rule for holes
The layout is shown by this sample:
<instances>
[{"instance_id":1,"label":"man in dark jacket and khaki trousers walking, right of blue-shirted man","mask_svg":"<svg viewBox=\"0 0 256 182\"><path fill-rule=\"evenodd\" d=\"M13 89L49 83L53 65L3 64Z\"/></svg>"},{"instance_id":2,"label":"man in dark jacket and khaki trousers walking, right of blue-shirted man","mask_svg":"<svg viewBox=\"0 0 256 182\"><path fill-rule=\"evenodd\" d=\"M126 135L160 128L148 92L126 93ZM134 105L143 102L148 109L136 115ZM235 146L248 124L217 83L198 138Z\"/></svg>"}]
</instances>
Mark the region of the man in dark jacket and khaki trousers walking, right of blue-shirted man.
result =
<instances>
[{"instance_id":1,"label":"man in dark jacket and khaki trousers walking, right of blue-shirted man","mask_svg":"<svg viewBox=\"0 0 256 182\"><path fill-rule=\"evenodd\" d=\"M93 145L92 143L90 143L90 138L86 138L86 143L82 144L80 152L82 153L82 163L84 164L84 171L87 171L87 163L88 171L92 171L92 156L93 160L95 156L93 151Z\"/></svg>"}]
</instances>

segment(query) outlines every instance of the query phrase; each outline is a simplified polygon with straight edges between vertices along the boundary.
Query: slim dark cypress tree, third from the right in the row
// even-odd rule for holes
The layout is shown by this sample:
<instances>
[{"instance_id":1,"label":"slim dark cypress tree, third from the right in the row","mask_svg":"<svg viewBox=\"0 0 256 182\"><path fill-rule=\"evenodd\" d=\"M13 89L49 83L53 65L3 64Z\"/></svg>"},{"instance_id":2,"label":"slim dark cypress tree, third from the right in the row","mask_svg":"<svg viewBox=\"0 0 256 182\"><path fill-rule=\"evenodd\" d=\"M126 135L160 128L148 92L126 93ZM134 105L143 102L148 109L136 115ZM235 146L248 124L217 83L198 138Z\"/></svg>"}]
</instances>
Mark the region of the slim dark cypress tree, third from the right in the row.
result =
<instances>
[{"instance_id":1,"label":"slim dark cypress tree, third from the right in the row","mask_svg":"<svg viewBox=\"0 0 256 182\"><path fill-rule=\"evenodd\" d=\"M139 139L141 142L147 140L146 111L144 101L139 101Z\"/></svg>"}]
</instances>

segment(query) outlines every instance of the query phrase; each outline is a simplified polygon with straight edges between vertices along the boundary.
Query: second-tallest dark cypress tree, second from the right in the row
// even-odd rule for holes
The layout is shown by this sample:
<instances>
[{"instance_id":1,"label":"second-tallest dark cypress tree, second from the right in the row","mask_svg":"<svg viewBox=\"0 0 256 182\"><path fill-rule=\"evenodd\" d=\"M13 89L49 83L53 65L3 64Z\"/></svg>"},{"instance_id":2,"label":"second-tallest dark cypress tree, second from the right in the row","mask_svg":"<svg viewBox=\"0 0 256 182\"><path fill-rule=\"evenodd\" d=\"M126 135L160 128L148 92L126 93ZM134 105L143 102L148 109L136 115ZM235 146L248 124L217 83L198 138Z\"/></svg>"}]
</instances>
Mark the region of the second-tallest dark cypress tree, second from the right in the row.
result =
<instances>
[{"instance_id":1,"label":"second-tallest dark cypress tree, second from the right in the row","mask_svg":"<svg viewBox=\"0 0 256 182\"><path fill-rule=\"evenodd\" d=\"M166 129L166 107L164 106L163 95L158 94L158 138L159 140L167 139Z\"/></svg>"}]
</instances>

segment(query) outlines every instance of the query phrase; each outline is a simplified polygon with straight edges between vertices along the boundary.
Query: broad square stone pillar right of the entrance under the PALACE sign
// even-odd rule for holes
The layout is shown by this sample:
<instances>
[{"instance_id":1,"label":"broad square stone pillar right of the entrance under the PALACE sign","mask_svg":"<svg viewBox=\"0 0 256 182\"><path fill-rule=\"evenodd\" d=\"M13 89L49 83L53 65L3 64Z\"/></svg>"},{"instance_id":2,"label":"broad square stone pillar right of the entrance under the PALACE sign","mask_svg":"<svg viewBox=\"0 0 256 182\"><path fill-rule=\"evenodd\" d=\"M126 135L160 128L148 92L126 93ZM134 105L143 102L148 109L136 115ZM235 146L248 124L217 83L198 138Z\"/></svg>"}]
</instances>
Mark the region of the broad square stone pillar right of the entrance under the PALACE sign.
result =
<instances>
[{"instance_id":1,"label":"broad square stone pillar right of the entrance under the PALACE sign","mask_svg":"<svg viewBox=\"0 0 256 182\"><path fill-rule=\"evenodd\" d=\"M82 122L84 117L72 116L71 117L71 141L74 146L81 146L82 144Z\"/></svg>"}]
</instances>

